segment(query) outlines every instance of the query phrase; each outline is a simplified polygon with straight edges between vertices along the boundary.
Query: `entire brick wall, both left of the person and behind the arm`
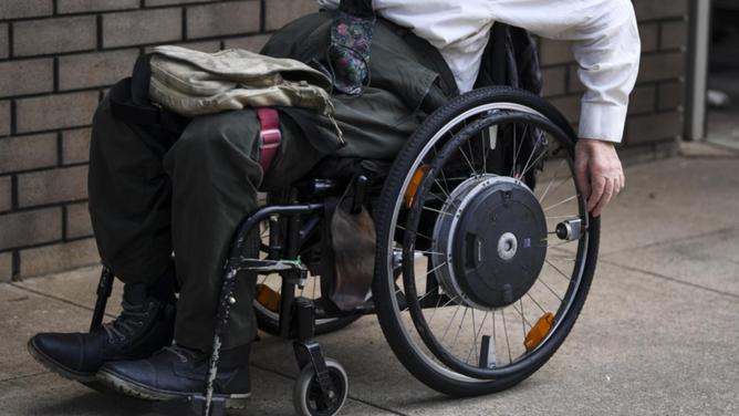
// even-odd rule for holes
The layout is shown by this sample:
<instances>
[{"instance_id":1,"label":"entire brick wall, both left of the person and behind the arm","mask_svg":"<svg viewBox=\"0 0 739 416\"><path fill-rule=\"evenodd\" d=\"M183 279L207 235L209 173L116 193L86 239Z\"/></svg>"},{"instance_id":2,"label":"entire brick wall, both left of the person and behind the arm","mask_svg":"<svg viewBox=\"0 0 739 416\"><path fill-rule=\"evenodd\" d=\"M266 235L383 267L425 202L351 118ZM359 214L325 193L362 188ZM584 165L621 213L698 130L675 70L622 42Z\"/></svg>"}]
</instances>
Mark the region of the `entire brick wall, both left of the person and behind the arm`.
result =
<instances>
[{"instance_id":1,"label":"entire brick wall, both left of the person and behind the arm","mask_svg":"<svg viewBox=\"0 0 739 416\"><path fill-rule=\"evenodd\" d=\"M624 153L681 134L687 0L635 0L644 56ZM90 122L144 51L259 50L313 0L0 0L0 281L97 261L87 216ZM542 41L545 94L574 124L582 86L566 44Z\"/></svg>"}]
</instances>

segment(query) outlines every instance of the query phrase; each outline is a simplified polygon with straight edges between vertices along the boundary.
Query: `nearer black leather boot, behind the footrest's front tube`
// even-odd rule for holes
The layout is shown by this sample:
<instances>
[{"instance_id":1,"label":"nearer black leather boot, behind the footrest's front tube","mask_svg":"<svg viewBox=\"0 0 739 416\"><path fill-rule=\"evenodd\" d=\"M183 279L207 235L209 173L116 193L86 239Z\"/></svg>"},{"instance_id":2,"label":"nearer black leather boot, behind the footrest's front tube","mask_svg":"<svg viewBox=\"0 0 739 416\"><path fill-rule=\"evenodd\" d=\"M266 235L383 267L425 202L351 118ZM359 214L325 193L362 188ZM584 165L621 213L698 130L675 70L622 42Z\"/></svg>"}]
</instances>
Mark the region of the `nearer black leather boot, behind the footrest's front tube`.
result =
<instances>
[{"instance_id":1,"label":"nearer black leather boot, behind the footrest's front tube","mask_svg":"<svg viewBox=\"0 0 739 416\"><path fill-rule=\"evenodd\" d=\"M228 407L241 407L251 395L249 351L251 344L221 351L215 396ZM97 379L118 392L149 401L167 401L204 394L210 354L179 345L164 347L150 358L111 362Z\"/></svg>"}]
</instances>

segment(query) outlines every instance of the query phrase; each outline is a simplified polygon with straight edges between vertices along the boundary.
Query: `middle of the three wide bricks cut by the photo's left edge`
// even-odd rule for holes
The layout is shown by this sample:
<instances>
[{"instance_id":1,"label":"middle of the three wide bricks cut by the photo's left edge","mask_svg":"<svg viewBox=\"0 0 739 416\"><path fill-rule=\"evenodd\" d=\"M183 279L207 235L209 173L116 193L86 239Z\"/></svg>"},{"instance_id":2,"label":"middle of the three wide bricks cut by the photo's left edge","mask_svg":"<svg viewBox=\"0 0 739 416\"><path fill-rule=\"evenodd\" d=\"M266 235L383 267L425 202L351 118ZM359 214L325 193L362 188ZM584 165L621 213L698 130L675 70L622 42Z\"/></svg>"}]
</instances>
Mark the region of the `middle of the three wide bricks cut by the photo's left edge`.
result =
<instances>
[{"instance_id":1,"label":"middle of the three wide bricks cut by the photo's left edge","mask_svg":"<svg viewBox=\"0 0 739 416\"><path fill-rule=\"evenodd\" d=\"M0 138L0 174L56 165L56 135Z\"/></svg>"}]
</instances>

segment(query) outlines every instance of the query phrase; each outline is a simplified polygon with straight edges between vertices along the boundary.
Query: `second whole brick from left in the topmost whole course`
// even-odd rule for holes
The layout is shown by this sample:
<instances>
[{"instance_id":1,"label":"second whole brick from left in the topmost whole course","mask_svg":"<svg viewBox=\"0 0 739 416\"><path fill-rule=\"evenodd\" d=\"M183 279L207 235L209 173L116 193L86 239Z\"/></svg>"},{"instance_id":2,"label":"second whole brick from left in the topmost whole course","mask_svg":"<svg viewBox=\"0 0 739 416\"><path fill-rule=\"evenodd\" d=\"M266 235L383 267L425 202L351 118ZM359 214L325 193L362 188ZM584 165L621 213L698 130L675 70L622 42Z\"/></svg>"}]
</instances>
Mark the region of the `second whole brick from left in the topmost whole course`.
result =
<instances>
[{"instance_id":1,"label":"second whole brick from left in the topmost whole course","mask_svg":"<svg viewBox=\"0 0 739 416\"><path fill-rule=\"evenodd\" d=\"M181 40L181 37L180 9L140 10L103 15L105 48L174 42Z\"/></svg>"}]
</instances>

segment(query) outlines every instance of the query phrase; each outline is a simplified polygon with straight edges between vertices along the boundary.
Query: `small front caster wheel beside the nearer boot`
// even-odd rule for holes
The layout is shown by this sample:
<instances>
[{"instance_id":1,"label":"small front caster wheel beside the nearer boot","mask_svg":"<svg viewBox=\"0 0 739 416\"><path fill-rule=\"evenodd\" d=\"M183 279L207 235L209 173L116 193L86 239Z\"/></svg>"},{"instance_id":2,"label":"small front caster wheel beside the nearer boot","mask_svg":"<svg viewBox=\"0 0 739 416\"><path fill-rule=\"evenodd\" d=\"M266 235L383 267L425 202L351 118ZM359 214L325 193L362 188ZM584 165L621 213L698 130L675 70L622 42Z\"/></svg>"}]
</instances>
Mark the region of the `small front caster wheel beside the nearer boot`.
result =
<instances>
[{"instance_id":1,"label":"small front caster wheel beside the nearer boot","mask_svg":"<svg viewBox=\"0 0 739 416\"><path fill-rule=\"evenodd\" d=\"M341 410L348 396L348 376L339 362L326 358L326 392L315 376L315 368L308 364L301 370L295 381L293 404L301 416L332 416Z\"/></svg>"}]
</instances>

